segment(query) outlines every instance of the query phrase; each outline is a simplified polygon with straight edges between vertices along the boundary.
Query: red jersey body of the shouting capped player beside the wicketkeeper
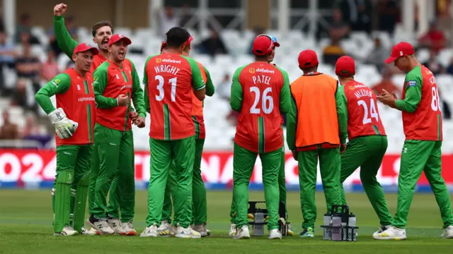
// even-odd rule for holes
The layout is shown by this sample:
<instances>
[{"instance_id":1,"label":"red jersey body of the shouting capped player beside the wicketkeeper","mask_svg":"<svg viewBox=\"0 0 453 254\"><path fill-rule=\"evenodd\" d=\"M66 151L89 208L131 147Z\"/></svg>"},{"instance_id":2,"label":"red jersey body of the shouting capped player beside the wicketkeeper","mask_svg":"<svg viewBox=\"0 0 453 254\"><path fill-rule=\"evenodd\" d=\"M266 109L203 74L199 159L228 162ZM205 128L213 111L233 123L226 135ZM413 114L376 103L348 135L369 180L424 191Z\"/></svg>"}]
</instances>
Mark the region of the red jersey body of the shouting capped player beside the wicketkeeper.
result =
<instances>
[{"instance_id":1,"label":"red jersey body of the shouting capped player beside the wicketkeeper","mask_svg":"<svg viewBox=\"0 0 453 254\"><path fill-rule=\"evenodd\" d=\"M129 59L122 62L122 68L111 61L107 61L100 68L106 68L106 70L99 71L107 73L106 80L98 80L98 82L106 82L103 91L104 97L117 98L119 95L132 97L132 63ZM96 108L96 122L114 130L129 131L132 128L131 121L129 121L130 104L131 102L127 104L127 107L112 109Z\"/></svg>"}]
</instances>

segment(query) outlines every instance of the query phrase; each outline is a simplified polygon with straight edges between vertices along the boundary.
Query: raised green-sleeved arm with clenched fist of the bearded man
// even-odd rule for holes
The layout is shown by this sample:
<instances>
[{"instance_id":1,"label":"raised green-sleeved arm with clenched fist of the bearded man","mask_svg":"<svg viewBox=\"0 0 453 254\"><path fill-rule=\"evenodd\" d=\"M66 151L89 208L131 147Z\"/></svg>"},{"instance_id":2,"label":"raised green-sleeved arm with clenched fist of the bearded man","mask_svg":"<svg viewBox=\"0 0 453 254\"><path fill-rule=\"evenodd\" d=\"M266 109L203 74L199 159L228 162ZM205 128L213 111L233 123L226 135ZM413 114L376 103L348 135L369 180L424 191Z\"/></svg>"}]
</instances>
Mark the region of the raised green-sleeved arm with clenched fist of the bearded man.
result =
<instances>
[{"instance_id":1,"label":"raised green-sleeved arm with clenched fist of the bearded man","mask_svg":"<svg viewBox=\"0 0 453 254\"><path fill-rule=\"evenodd\" d=\"M72 52L77 47L77 42L72 39L66 25L64 25L63 14L66 13L66 4L57 4L54 7L54 30L55 37L57 37L58 47L62 49L64 54L67 54L69 59L72 60Z\"/></svg>"}]
</instances>

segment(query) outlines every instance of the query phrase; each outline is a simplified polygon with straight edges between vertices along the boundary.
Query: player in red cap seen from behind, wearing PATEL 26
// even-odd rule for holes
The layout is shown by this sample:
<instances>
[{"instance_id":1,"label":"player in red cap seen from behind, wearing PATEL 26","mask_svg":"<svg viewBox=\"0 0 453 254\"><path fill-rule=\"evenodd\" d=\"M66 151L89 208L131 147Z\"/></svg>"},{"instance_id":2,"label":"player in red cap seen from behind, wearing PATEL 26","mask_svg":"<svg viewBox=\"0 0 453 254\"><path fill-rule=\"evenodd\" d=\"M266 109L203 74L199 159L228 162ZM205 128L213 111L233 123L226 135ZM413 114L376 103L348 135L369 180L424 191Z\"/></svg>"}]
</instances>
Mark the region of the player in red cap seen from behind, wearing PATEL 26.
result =
<instances>
[{"instance_id":1,"label":"player in red cap seen from behind, wearing PATEL 26","mask_svg":"<svg viewBox=\"0 0 453 254\"><path fill-rule=\"evenodd\" d=\"M282 238L278 231L278 175L283 146L280 121L281 114L289 110L289 77L286 71L269 63L273 47L272 37L256 37L252 48L255 62L238 68L231 85L231 109L239 112L233 159L233 202L237 210L234 238L239 239L250 238L248 183L258 155L263 164L269 238Z\"/></svg>"}]
</instances>

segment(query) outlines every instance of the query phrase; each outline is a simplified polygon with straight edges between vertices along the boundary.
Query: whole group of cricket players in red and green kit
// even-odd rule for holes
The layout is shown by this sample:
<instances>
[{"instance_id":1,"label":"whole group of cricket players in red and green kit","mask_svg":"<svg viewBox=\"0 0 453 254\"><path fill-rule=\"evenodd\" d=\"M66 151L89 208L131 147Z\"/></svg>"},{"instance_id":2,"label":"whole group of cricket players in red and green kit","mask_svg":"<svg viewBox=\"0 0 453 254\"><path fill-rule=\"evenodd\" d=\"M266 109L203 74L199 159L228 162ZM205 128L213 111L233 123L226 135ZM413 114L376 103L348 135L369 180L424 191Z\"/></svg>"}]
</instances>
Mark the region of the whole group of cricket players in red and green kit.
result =
<instances>
[{"instance_id":1,"label":"whole group of cricket players in red and green kit","mask_svg":"<svg viewBox=\"0 0 453 254\"><path fill-rule=\"evenodd\" d=\"M209 236L206 188L201 176L205 143L203 100L214 95L209 71L190 58L190 36L171 28L161 53L149 56L142 83L126 58L132 41L114 34L113 25L93 26L93 42L75 42L65 28L67 5L54 8L59 47L74 67L57 75L35 95L55 126L57 176L52 188L54 235L134 236L134 141L132 124L149 124L150 179L147 227L140 236ZM406 71L403 98L379 95L354 80L355 61L336 63L338 79L319 73L312 50L299 54L303 75L293 83L272 63L280 44L270 35L253 41L255 61L236 70L231 109L239 113L234 138L234 189L229 236L250 238L248 183L256 158L263 164L270 239L281 239L279 205L286 205L286 142L299 164L301 237L314 237L316 173L319 160L327 209L346 205L343 181L360 167L365 193L379 218L375 239L406 239L406 219L422 171L430 182L443 221L444 238L453 238L449 193L441 175L442 113L431 71L415 59L411 44L394 46L386 63ZM57 98L57 109L50 97ZM398 211L392 219L376 179L387 148L377 101L402 111L406 141L398 179ZM133 105L133 106L132 106ZM145 123L146 115L150 123ZM348 143L347 143L348 140ZM86 199L89 218L85 221ZM173 213L173 219L172 219ZM85 222L91 229L84 227ZM292 235L289 229L288 234Z\"/></svg>"}]
</instances>

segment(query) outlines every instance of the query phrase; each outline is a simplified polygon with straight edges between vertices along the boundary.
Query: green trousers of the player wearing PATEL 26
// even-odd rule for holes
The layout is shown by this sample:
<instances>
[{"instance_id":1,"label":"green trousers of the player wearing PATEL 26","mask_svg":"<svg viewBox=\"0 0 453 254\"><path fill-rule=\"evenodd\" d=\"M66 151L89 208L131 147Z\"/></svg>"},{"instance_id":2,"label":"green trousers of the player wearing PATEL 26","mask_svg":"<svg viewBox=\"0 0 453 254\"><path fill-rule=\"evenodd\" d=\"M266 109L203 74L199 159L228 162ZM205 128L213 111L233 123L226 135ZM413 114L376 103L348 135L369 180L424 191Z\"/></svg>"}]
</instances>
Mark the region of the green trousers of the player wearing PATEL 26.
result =
<instances>
[{"instance_id":1,"label":"green trousers of the player wearing PATEL 26","mask_svg":"<svg viewBox=\"0 0 453 254\"><path fill-rule=\"evenodd\" d=\"M268 209L268 229L278 229L278 175L282 163L282 150L259 153L263 164L263 185L266 208ZM248 225L248 183L255 166L258 152L251 152L234 143L233 155L233 203L236 202L236 225L241 228Z\"/></svg>"}]
</instances>

